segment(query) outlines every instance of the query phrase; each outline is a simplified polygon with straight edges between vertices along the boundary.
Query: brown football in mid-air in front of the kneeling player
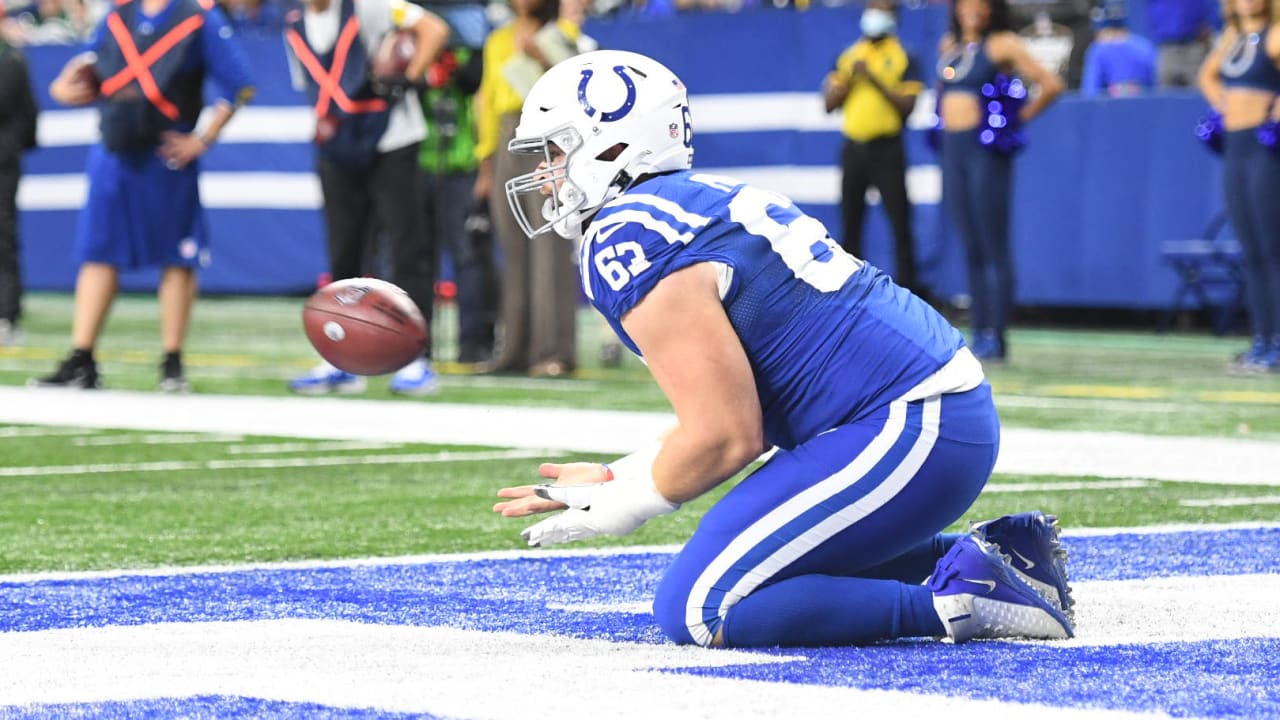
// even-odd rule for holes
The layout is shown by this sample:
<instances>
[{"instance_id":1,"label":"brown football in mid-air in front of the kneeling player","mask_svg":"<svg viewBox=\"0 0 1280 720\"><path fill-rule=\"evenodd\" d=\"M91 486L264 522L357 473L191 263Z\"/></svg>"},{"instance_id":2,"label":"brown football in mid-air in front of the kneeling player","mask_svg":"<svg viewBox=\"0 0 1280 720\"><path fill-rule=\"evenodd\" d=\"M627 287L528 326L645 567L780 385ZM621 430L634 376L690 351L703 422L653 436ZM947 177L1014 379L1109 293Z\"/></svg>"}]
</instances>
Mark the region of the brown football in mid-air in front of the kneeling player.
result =
<instances>
[{"instance_id":1,"label":"brown football in mid-air in front of the kneeling player","mask_svg":"<svg viewBox=\"0 0 1280 720\"><path fill-rule=\"evenodd\" d=\"M426 320L408 293L372 278L317 290L302 307L302 325L321 357L357 375L394 373L426 347Z\"/></svg>"}]
</instances>

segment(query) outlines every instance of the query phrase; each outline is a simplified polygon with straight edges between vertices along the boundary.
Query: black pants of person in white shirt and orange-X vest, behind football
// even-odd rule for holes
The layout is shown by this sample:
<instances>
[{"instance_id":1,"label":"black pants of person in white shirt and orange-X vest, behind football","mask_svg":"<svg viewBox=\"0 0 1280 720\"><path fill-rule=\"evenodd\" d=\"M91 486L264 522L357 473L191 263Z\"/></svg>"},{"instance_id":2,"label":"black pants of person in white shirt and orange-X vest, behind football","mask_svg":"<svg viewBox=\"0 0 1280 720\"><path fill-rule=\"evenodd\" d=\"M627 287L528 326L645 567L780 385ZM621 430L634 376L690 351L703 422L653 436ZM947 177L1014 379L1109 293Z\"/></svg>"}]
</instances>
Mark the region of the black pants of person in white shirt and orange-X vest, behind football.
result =
<instances>
[{"instance_id":1,"label":"black pants of person in white shirt and orange-X vest, behind football","mask_svg":"<svg viewBox=\"0 0 1280 720\"><path fill-rule=\"evenodd\" d=\"M365 242L376 227L387 241L388 277L417 304L431 327L435 304L435 247L422 210L422 174L417 143L381 152L372 165L352 170L319 160L324 218L329 231L329 273L333 279L360 277ZM431 356L428 333L426 356Z\"/></svg>"}]
</instances>

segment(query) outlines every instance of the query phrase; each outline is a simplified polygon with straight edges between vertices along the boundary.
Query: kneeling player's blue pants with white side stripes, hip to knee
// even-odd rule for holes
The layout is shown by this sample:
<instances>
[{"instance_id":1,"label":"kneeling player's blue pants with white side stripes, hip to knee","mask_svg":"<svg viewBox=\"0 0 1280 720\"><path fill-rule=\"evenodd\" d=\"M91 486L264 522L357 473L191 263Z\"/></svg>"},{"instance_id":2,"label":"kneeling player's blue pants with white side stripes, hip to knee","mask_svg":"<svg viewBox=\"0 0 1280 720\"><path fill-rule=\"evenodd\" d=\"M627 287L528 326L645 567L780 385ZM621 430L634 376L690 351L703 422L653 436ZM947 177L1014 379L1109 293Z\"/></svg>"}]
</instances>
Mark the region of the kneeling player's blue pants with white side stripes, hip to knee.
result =
<instances>
[{"instance_id":1,"label":"kneeling player's blue pants with white side stripes, hip to knee","mask_svg":"<svg viewBox=\"0 0 1280 720\"><path fill-rule=\"evenodd\" d=\"M852 577L892 560L968 509L997 447L983 384L896 402L780 451L708 511L658 588L658 623L676 642L709 644L763 587L804 574Z\"/></svg>"}]
</instances>

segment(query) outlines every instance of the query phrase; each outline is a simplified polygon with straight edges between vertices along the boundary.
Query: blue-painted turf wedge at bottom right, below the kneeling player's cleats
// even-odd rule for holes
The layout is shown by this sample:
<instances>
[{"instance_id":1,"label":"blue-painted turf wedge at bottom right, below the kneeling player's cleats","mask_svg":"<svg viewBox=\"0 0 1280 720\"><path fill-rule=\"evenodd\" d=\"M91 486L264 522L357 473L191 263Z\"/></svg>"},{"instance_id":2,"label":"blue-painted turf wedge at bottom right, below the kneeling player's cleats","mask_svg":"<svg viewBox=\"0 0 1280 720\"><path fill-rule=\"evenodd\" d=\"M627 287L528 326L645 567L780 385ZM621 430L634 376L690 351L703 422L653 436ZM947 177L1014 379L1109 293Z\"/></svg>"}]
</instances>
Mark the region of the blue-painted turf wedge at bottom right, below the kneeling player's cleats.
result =
<instances>
[{"instance_id":1,"label":"blue-painted turf wedge at bottom right, below the kneeling player's cleats","mask_svg":"<svg viewBox=\"0 0 1280 720\"><path fill-rule=\"evenodd\" d=\"M932 641L804 651L806 662L678 673L1196 717L1280 717L1280 639L1057 648Z\"/></svg>"}]
</instances>

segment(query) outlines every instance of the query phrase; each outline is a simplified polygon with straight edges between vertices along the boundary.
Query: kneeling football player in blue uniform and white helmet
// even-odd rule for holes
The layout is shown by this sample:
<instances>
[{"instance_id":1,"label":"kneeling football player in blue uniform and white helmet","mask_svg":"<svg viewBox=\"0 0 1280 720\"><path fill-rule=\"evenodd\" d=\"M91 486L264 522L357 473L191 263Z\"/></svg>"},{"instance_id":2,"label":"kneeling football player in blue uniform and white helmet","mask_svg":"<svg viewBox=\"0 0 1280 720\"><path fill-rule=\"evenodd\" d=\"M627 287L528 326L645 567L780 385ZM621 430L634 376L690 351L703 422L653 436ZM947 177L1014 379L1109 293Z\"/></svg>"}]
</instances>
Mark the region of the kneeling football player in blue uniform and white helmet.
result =
<instances>
[{"instance_id":1,"label":"kneeling football player in blue uniform and white helmet","mask_svg":"<svg viewBox=\"0 0 1280 720\"><path fill-rule=\"evenodd\" d=\"M584 291L677 420L617 461L544 464L543 484L500 489L504 516L562 510L524 530L530 546L627 534L772 447L659 583L673 642L1073 634L1055 518L942 534L1000 446L960 332L786 196L695 172L669 69L622 51L564 60L530 91L509 149L541 160L506 186L517 222L581 237ZM541 199L535 217L525 196Z\"/></svg>"}]
</instances>

